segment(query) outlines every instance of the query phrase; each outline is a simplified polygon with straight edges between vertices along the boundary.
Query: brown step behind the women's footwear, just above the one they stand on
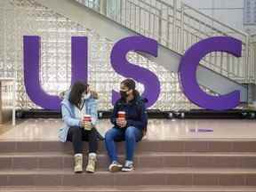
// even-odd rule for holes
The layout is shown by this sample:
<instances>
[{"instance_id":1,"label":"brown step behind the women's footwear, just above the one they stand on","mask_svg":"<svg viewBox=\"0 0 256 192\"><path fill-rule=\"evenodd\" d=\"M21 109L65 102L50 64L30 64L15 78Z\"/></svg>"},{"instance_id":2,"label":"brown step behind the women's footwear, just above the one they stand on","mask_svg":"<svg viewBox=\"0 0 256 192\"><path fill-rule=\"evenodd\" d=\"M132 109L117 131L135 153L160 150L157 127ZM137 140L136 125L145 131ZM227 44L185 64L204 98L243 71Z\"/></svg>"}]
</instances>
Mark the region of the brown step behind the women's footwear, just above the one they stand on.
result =
<instances>
[{"instance_id":1,"label":"brown step behind the women's footwear, just above the one they stand on","mask_svg":"<svg viewBox=\"0 0 256 192\"><path fill-rule=\"evenodd\" d=\"M124 162L124 155L119 155ZM87 156L84 155L84 165ZM202 168L256 168L256 153L248 152L140 152L134 157L140 168L202 167ZM106 152L98 155L98 167L107 168ZM73 167L71 152L0 153L0 170L54 169Z\"/></svg>"}]
</instances>

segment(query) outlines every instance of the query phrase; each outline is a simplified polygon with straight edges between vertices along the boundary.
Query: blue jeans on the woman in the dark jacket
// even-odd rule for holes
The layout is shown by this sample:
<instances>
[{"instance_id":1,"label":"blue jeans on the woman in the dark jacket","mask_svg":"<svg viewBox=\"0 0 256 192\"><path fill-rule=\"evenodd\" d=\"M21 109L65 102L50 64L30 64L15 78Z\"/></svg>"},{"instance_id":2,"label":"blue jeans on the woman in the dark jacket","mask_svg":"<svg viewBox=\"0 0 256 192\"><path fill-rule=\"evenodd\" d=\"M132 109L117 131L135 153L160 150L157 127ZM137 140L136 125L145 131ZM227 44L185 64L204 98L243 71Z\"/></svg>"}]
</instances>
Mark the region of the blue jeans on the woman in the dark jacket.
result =
<instances>
[{"instance_id":1,"label":"blue jeans on the woman in the dark jacket","mask_svg":"<svg viewBox=\"0 0 256 192\"><path fill-rule=\"evenodd\" d=\"M125 140L126 160L132 161L136 142L143 137L140 129L129 126L126 129L113 127L105 135L105 145L108 150L110 161L117 161L115 141Z\"/></svg>"}]
</instances>

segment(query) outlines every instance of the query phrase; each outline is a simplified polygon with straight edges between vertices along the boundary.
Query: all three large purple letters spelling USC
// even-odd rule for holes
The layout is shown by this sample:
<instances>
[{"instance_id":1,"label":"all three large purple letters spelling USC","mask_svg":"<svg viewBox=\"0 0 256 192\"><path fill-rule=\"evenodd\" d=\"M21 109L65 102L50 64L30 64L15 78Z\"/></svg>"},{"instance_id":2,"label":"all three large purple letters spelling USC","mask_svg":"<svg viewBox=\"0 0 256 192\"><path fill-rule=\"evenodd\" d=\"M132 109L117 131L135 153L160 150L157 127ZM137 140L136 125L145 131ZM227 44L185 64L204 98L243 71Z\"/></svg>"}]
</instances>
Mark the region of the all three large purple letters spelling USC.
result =
<instances>
[{"instance_id":1,"label":"all three large purple letters spelling USC","mask_svg":"<svg viewBox=\"0 0 256 192\"><path fill-rule=\"evenodd\" d=\"M60 109L60 99L44 92L39 82L40 37L24 36L24 81L30 100L46 109ZM87 37L71 38L71 84L77 80L87 81ZM196 82L196 67L209 52L228 52L241 56L242 43L232 37L217 36L194 44L180 62L179 76L183 92L197 106L223 110L235 108L239 104L239 91L227 95L212 97L203 92ZM111 52L111 64L116 73L130 77L144 84L142 97L148 99L147 108L153 106L160 93L160 82L156 75L146 68L140 68L126 60L131 51L146 52L157 57L157 42L144 36L130 36L117 42ZM170 63L172 65L172 63ZM112 91L112 103L119 98L118 92Z\"/></svg>"}]
</instances>

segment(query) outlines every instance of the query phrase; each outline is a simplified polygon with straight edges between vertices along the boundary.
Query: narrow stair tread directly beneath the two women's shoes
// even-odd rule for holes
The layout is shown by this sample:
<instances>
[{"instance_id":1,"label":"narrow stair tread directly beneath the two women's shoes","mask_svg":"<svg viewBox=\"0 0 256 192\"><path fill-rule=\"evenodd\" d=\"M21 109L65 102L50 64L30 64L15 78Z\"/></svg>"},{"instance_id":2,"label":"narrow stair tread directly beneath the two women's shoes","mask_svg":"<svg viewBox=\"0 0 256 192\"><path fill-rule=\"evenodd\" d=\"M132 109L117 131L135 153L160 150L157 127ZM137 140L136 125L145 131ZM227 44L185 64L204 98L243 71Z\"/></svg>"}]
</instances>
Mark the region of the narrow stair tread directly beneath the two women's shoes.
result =
<instances>
[{"instance_id":1,"label":"narrow stair tread directly beneath the two women's shoes","mask_svg":"<svg viewBox=\"0 0 256 192\"><path fill-rule=\"evenodd\" d=\"M85 173L85 172L84 172ZM98 169L96 174L108 174L107 168L106 169ZM161 168L136 168L133 172L116 172L116 174L152 174L152 173L188 173L188 174L256 174L256 168L190 168L190 167L161 167ZM5 174L43 174L43 175L52 175L52 174L74 174L73 170L70 168L65 168L62 170L56 169L30 169L30 170L23 170L23 169L15 169L15 170L0 170L0 175ZM93 175L93 174L89 174Z\"/></svg>"}]
</instances>

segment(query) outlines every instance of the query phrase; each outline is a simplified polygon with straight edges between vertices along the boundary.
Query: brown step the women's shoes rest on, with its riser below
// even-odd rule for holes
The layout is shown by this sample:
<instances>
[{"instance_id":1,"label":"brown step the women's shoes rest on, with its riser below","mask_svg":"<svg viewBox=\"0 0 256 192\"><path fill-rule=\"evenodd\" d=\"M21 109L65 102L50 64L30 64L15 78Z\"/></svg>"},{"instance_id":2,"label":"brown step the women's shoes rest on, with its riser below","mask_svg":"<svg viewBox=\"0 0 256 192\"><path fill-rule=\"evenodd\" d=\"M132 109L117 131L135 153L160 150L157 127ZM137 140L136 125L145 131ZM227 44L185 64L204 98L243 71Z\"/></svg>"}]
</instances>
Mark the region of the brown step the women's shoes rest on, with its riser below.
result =
<instances>
[{"instance_id":1,"label":"brown step the women's shoes rest on, with its riser below","mask_svg":"<svg viewBox=\"0 0 256 192\"><path fill-rule=\"evenodd\" d=\"M256 186L256 169L138 168L134 172L75 174L63 170L0 172L1 186Z\"/></svg>"}]
</instances>

